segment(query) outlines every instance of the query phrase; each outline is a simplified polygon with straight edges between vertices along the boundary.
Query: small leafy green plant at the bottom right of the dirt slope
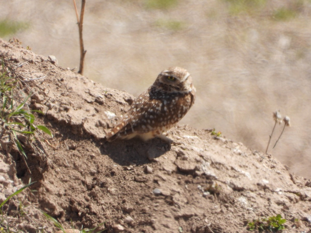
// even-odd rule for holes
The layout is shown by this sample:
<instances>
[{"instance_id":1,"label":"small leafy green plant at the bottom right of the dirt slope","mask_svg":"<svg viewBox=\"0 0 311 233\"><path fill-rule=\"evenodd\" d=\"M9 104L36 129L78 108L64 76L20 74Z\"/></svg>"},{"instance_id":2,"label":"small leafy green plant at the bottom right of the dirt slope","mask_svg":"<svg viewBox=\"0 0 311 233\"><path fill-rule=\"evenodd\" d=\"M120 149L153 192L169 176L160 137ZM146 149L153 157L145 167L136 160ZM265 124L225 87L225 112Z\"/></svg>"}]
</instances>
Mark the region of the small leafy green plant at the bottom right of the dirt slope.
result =
<instances>
[{"instance_id":1,"label":"small leafy green plant at the bottom right of the dirt slope","mask_svg":"<svg viewBox=\"0 0 311 233\"><path fill-rule=\"evenodd\" d=\"M286 219L282 218L281 214L276 216L262 218L261 220L253 220L253 222L248 222L247 230L253 231L258 230L259 232L262 231L270 231L276 232L285 229L283 225L286 222Z\"/></svg>"}]
</instances>

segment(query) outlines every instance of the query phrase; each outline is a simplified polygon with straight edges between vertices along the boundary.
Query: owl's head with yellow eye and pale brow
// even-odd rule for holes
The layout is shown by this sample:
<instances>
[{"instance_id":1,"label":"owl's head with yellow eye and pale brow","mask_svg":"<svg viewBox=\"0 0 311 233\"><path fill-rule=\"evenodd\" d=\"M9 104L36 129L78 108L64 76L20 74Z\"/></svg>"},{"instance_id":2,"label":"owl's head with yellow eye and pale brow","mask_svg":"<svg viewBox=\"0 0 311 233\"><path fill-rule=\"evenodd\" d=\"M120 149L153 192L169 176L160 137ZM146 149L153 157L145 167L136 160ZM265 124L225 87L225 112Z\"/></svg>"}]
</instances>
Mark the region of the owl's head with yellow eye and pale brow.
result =
<instances>
[{"instance_id":1,"label":"owl's head with yellow eye and pale brow","mask_svg":"<svg viewBox=\"0 0 311 233\"><path fill-rule=\"evenodd\" d=\"M165 88L168 92L191 92L194 89L191 75L180 67L170 67L162 71L153 86Z\"/></svg>"}]
</instances>

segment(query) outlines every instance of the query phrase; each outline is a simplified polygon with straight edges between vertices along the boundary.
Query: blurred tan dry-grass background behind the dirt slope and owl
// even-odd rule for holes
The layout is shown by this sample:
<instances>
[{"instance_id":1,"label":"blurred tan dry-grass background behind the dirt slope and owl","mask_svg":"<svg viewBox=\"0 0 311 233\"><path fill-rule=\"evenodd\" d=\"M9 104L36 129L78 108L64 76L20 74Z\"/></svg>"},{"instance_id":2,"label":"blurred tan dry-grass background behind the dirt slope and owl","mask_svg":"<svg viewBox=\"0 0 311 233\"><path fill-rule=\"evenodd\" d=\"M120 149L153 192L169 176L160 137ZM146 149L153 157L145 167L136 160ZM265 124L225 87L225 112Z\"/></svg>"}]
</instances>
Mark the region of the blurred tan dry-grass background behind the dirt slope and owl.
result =
<instances>
[{"instance_id":1,"label":"blurred tan dry-grass background behind the dirt slope and owl","mask_svg":"<svg viewBox=\"0 0 311 233\"><path fill-rule=\"evenodd\" d=\"M60 66L79 66L72 1L1 6L3 39L54 55ZM163 69L184 67L197 99L181 123L216 128L260 151L274 125L272 112L281 110L292 127L268 152L311 178L310 22L310 0L87 1L84 75L138 96Z\"/></svg>"}]
</instances>

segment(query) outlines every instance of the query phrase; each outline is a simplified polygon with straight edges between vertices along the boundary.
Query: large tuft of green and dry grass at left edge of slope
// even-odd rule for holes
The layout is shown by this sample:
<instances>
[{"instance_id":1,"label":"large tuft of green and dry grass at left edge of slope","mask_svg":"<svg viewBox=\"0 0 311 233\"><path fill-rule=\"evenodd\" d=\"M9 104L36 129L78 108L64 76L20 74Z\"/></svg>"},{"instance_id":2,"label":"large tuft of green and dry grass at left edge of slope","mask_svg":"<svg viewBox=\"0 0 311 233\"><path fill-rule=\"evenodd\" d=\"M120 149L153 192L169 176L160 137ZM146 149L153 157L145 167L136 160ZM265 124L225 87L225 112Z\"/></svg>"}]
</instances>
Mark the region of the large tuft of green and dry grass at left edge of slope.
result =
<instances>
[{"instance_id":1,"label":"large tuft of green and dry grass at left edge of slope","mask_svg":"<svg viewBox=\"0 0 311 233\"><path fill-rule=\"evenodd\" d=\"M0 71L0 145L7 151L14 148L15 145L28 168L27 155L19 139L20 136L26 136L26 142L32 145L33 151L35 151L35 145L32 144L36 136L35 132L40 130L51 137L53 135L45 126L35 124L33 112L40 114L43 112L29 109L28 103L31 94L28 96L24 94L21 88L23 83L15 74L14 64L11 64L10 67L8 64L10 64L9 61L2 58L2 72ZM28 171L30 172L29 168Z\"/></svg>"}]
</instances>

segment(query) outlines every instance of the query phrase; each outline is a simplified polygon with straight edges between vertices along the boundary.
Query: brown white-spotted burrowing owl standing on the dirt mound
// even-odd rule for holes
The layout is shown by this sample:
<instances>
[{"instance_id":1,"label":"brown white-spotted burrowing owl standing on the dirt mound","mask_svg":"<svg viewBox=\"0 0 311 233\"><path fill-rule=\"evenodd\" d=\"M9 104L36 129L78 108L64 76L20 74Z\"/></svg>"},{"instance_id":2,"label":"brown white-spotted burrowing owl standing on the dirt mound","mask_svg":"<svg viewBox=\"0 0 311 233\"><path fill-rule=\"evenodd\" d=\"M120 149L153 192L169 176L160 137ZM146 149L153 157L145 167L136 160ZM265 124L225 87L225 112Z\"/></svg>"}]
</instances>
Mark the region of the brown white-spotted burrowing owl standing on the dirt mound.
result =
<instances>
[{"instance_id":1,"label":"brown white-spotted burrowing owl standing on the dirt mound","mask_svg":"<svg viewBox=\"0 0 311 233\"><path fill-rule=\"evenodd\" d=\"M186 115L194 103L195 92L192 77L185 69L170 67L162 71L154 84L135 99L121 123L107 133L106 139L138 136L145 141L160 137L172 142L162 133Z\"/></svg>"}]
</instances>

